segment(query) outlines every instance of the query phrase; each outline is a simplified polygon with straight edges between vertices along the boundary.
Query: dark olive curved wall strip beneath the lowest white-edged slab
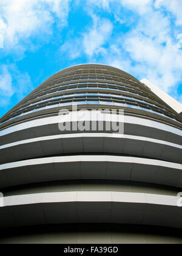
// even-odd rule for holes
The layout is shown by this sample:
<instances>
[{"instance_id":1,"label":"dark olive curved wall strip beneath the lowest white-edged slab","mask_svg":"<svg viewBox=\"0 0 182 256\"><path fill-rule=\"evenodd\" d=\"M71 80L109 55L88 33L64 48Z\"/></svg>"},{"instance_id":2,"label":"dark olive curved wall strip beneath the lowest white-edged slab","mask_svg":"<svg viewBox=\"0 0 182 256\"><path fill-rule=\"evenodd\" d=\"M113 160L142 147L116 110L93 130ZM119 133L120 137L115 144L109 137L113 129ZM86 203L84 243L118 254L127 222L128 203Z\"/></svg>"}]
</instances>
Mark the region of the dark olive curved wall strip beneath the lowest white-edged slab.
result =
<instances>
[{"instance_id":1,"label":"dark olive curved wall strip beneath the lowest white-edged slab","mask_svg":"<svg viewBox=\"0 0 182 256\"><path fill-rule=\"evenodd\" d=\"M0 244L181 243L180 229L133 224L55 224L4 229L0 234Z\"/></svg>"}]
</instances>

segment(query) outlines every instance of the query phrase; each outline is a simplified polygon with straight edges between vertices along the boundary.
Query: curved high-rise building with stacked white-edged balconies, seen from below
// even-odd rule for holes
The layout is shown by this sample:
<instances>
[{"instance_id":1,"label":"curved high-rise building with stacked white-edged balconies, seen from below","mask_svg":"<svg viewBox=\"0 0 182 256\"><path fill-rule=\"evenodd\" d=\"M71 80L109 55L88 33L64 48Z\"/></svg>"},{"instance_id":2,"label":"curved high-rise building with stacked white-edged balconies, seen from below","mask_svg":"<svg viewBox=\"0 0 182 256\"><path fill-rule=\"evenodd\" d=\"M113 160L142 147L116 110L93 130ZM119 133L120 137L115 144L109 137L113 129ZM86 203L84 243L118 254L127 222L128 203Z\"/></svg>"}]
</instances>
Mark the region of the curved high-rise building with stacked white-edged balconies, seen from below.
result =
<instances>
[{"instance_id":1,"label":"curved high-rise building with stacked white-edged balconies, seen from below","mask_svg":"<svg viewBox=\"0 0 182 256\"><path fill-rule=\"evenodd\" d=\"M182 109L150 85L73 66L2 116L0 243L182 243Z\"/></svg>"}]
</instances>

